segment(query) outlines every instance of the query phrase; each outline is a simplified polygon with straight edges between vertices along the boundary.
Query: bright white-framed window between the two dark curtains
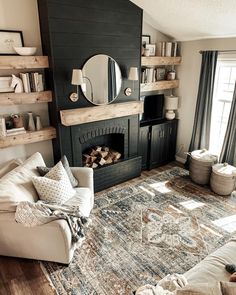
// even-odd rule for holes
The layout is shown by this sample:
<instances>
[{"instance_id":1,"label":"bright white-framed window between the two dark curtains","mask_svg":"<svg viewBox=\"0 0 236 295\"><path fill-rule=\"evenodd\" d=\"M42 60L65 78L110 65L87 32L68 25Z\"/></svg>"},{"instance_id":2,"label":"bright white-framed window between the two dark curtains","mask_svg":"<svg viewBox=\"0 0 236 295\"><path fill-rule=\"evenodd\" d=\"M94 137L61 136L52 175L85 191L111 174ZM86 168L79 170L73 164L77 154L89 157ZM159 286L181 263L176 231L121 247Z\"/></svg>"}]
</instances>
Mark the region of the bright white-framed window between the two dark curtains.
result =
<instances>
[{"instance_id":1,"label":"bright white-framed window between the two dark curtains","mask_svg":"<svg viewBox=\"0 0 236 295\"><path fill-rule=\"evenodd\" d=\"M209 150L218 156L227 128L235 81L236 58L226 60L219 57L216 68L209 147Z\"/></svg>"}]
</instances>

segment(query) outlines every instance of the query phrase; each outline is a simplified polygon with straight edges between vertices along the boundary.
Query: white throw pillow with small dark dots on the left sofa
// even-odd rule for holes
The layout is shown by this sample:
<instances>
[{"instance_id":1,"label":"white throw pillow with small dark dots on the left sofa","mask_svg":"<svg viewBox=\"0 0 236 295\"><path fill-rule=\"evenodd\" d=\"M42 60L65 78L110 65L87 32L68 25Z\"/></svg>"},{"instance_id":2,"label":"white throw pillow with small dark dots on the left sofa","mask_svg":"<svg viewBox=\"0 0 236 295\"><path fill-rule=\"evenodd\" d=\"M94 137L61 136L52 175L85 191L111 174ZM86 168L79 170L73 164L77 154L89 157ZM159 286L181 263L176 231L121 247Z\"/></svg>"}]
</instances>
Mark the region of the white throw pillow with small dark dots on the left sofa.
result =
<instances>
[{"instance_id":1,"label":"white throw pillow with small dark dots on the left sofa","mask_svg":"<svg viewBox=\"0 0 236 295\"><path fill-rule=\"evenodd\" d=\"M49 203L63 204L76 193L61 162L58 162L45 177L35 176L32 181L39 198Z\"/></svg>"}]
</instances>

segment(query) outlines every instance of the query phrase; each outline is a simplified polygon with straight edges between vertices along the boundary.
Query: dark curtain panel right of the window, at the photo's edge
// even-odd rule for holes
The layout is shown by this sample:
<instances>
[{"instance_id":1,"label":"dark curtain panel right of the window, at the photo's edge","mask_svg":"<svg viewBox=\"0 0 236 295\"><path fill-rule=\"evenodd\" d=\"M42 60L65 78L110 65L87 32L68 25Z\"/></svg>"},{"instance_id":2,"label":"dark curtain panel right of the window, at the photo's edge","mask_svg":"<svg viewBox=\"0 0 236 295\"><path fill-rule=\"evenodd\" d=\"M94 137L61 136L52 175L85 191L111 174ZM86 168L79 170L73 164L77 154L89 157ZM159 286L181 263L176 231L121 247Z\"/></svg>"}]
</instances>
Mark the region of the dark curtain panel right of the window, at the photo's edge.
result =
<instances>
[{"instance_id":1,"label":"dark curtain panel right of the window, at the photo's edge","mask_svg":"<svg viewBox=\"0 0 236 295\"><path fill-rule=\"evenodd\" d=\"M223 147L220 154L220 162L236 165L236 83Z\"/></svg>"}]
</instances>

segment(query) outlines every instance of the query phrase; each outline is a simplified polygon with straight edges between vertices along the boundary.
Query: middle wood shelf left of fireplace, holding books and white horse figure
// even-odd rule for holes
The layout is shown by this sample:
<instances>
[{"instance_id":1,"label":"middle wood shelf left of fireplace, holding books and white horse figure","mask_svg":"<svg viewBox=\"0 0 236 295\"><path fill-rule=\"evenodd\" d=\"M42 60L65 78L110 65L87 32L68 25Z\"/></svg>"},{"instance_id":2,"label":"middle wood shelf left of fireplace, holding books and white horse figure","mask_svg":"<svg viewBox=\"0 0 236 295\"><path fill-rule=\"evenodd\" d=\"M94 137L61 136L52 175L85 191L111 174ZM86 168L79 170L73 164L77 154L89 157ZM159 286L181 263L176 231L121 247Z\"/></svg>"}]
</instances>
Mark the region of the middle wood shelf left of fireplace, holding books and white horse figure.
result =
<instances>
[{"instance_id":1,"label":"middle wood shelf left of fireplace, holding books and white horse figure","mask_svg":"<svg viewBox=\"0 0 236 295\"><path fill-rule=\"evenodd\" d=\"M31 93L0 93L0 105L45 103L52 101L52 91Z\"/></svg>"}]
</instances>

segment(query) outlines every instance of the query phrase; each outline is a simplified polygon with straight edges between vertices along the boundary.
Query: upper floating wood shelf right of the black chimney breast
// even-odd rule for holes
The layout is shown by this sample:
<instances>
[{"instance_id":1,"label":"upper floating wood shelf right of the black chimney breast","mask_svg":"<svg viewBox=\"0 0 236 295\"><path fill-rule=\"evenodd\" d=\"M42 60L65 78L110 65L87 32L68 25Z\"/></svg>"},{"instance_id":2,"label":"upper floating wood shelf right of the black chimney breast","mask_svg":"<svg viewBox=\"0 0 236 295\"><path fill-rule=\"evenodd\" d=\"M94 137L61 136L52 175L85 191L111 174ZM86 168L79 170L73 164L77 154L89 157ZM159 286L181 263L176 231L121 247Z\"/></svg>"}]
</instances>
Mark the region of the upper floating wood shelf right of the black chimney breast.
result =
<instances>
[{"instance_id":1,"label":"upper floating wood shelf right of the black chimney breast","mask_svg":"<svg viewBox=\"0 0 236 295\"><path fill-rule=\"evenodd\" d=\"M168 65L180 65L180 56L143 56L141 60L142 66L168 66Z\"/></svg>"}]
</instances>

